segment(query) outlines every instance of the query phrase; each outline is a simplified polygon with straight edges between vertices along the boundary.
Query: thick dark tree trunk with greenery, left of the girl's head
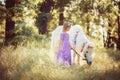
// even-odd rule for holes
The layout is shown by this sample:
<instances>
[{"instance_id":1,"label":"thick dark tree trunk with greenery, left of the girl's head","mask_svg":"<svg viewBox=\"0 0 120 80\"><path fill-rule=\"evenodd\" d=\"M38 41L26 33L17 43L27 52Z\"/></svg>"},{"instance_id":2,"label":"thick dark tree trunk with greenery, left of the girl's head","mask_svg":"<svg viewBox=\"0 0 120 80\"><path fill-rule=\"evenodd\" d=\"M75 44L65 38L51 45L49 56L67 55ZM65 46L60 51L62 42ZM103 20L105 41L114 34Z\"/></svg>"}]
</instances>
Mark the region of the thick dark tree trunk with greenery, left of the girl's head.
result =
<instances>
[{"instance_id":1,"label":"thick dark tree trunk with greenery, left of the girl's head","mask_svg":"<svg viewBox=\"0 0 120 80\"><path fill-rule=\"evenodd\" d=\"M42 4L38 4L40 13L38 13L38 17L36 18L36 26L39 28L39 34L46 34L48 32L48 18L53 5L53 0L45 0Z\"/></svg>"}]
</instances>

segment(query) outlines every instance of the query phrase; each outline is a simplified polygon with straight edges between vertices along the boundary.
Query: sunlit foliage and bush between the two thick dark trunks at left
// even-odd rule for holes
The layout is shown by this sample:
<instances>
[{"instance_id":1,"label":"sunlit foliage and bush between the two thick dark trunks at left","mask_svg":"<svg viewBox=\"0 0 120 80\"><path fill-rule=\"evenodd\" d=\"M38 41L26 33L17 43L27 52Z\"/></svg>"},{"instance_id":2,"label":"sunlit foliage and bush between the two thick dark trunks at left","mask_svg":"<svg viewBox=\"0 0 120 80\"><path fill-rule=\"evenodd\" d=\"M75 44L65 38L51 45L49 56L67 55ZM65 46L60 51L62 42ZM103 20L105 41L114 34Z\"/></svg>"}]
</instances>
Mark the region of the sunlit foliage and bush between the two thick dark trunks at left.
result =
<instances>
[{"instance_id":1,"label":"sunlit foliage and bush between the two thick dark trunks at left","mask_svg":"<svg viewBox=\"0 0 120 80\"><path fill-rule=\"evenodd\" d=\"M10 44L27 44L27 42L36 40L35 38L37 37L41 38L34 24L36 17L35 8L38 2L42 1L18 0L16 1L15 7L11 8L15 14L13 18L15 21L15 28L13 31L16 36L10 41Z\"/></svg>"}]
</instances>

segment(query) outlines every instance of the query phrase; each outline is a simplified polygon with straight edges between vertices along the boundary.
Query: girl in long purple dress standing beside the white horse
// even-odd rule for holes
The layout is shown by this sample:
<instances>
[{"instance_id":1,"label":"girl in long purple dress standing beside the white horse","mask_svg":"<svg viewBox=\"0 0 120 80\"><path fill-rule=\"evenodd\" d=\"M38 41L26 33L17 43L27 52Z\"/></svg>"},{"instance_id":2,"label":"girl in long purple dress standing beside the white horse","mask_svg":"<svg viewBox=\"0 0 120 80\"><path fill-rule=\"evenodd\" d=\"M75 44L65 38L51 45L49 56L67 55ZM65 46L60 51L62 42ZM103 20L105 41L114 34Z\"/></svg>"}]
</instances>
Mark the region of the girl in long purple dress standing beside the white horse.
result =
<instances>
[{"instance_id":1,"label":"girl in long purple dress standing beside the white horse","mask_svg":"<svg viewBox=\"0 0 120 80\"><path fill-rule=\"evenodd\" d=\"M62 32L60 34L57 62L63 65L71 65L71 48L69 34L67 33L70 27L71 24L69 22L64 23Z\"/></svg>"}]
</instances>

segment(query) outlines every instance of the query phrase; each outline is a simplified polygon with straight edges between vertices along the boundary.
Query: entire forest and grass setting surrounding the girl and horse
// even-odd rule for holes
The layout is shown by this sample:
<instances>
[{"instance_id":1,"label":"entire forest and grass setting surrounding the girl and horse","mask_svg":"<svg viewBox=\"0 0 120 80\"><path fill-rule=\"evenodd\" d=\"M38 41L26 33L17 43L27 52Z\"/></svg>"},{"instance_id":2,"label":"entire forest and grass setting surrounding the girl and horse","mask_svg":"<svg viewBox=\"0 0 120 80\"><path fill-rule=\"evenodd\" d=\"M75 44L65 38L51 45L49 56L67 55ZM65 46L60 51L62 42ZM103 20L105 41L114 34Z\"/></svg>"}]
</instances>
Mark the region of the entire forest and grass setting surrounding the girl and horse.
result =
<instances>
[{"instance_id":1,"label":"entire forest and grass setting surrounding the girl and horse","mask_svg":"<svg viewBox=\"0 0 120 80\"><path fill-rule=\"evenodd\" d=\"M70 21L95 43L93 65L50 60L52 31ZM119 80L119 0L0 0L0 80Z\"/></svg>"}]
</instances>

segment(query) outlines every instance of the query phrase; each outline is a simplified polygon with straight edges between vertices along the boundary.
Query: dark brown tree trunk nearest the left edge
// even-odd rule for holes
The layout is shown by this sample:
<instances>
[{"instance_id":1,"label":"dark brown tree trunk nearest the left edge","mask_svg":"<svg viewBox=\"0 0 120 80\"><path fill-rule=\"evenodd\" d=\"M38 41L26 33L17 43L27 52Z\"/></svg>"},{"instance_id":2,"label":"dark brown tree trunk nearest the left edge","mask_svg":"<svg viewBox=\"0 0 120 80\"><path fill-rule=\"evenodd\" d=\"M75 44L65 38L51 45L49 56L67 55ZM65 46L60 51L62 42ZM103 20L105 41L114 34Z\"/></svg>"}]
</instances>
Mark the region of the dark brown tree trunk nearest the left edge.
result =
<instances>
[{"instance_id":1,"label":"dark brown tree trunk nearest the left edge","mask_svg":"<svg viewBox=\"0 0 120 80\"><path fill-rule=\"evenodd\" d=\"M6 17L6 25L5 25L5 44L8 43L13 39L14 32L13 29L15 27L15 21L13 20L14 17L14 10L15 7L15 0L6 0L6 10L7 10L7 17Z\"/></svg>"}]
</instances>

